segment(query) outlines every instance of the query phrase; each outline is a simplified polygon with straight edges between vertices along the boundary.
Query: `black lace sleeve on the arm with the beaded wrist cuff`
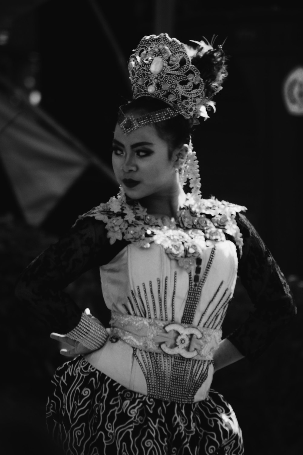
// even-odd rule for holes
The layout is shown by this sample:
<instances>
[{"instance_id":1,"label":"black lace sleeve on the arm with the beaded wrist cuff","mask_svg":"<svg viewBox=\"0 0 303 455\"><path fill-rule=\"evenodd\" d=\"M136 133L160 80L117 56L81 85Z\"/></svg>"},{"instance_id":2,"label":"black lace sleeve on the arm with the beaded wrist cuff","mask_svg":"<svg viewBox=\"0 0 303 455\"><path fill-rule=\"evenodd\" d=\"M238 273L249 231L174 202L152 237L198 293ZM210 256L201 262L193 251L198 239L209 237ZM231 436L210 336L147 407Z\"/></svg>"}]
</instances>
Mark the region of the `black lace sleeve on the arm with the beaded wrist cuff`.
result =
<instances>
[{"instance_id":1,"label":"black lace sleeve on the arm with the beaded wrist cuff","mask_svg":"<svg viewBox=\"0 0 303 455\"><path fill-rule=\"evenodd\" d=\"M51 331L68 333L82 311L64 289L87 270L108 263L126 245L110 245L104 223L85 217L30 263L17 282L16 297Z\"/></svg>"}]
</instances>

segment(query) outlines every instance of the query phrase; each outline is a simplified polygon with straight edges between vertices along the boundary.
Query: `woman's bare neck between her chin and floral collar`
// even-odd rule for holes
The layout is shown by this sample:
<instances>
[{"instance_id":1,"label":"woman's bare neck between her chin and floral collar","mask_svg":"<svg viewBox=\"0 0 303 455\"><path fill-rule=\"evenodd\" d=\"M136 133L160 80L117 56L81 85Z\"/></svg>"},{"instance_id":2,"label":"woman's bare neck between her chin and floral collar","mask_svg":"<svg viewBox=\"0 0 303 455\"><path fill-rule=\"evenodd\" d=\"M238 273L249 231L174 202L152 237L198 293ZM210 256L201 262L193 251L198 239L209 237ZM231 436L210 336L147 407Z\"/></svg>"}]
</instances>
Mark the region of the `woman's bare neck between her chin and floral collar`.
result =
<instances>
[{"instance_id":1,"label":"woman's bare neck between her chin and floral collar","mask_svg":"<svg viewBox=\"0 0 303 455\"><path fill-rule=\"evenodd\" d=\"M155 217L175 218L180 207L184 205L186 195L179 185L178 190L172 194L152 194L139 200L150 215Z\"/></svg>"}]
</instances>

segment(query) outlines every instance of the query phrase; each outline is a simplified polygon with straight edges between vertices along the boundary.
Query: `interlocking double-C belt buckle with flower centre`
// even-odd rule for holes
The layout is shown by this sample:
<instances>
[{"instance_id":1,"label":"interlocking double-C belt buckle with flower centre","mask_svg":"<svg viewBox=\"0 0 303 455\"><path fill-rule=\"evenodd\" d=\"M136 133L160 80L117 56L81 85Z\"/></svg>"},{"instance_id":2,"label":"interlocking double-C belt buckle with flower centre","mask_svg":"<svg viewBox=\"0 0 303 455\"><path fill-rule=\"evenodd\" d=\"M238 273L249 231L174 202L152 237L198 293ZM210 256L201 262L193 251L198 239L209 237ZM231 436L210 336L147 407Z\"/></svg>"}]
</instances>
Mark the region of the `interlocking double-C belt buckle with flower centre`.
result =
<instances>
[{"instance_id":1,"label":"interlocking double-C belt buckle with flower centre","mask_svg":"<svg viewBox=\"0 0 303 455\"><path fill-rule=\"evenodd\" d=\"M197 349L194 349L192 352L189 352L185 348L187 348L187 346L190 343L189 335L196 335L198 339L202 338L203 334L200 332L199 329L196 329L195 327L188 327L187 329L185 329L180 324L168 324L167 326L164 327L164 329L166 332L175 330L176 332L179 333L179 336L176 339L177 346L175 346L174 348L169 348L168 346L166 346L165 343L160 344L160 348L166 354L170 355L180 354L182 355L182 357L186 357L187 359L190 359L198 355Z\"/></svg>"}]
</instances>

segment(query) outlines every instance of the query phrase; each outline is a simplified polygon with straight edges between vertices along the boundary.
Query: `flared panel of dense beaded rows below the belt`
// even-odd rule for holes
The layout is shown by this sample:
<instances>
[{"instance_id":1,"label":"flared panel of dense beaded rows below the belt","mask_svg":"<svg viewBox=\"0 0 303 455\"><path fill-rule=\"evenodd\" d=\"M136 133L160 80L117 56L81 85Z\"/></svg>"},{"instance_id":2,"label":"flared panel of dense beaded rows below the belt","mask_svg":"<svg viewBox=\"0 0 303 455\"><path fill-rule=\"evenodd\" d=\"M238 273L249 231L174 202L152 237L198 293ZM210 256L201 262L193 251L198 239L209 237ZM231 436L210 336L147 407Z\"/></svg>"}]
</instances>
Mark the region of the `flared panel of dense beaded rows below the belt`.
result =
<instances>
[{"instance_id":1,"label":"flared panel of dense beaded rows below the belt","mask_svg":"<svg viewBox=\"0 0 303 455\"><path fill-rule=\"evenodd\" d=\"M178 403L193 403L208 376L211 360L193 360L133 348L144 374L149 396Z\"/></svg>"}]
</instances>

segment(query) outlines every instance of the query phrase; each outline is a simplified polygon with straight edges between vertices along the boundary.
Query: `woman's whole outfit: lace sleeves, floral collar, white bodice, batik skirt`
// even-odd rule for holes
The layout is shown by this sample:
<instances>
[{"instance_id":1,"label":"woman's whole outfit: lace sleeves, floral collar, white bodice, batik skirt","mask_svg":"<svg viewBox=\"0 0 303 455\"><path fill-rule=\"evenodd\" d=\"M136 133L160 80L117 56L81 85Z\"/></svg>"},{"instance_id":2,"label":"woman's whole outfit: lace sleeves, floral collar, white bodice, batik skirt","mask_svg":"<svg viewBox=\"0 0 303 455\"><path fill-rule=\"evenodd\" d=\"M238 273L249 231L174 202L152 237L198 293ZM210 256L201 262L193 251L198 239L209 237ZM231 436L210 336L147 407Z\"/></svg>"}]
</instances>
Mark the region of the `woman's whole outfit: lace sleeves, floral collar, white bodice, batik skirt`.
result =
<instances>
[{"instance_id":1,"label":"woman's whole outfit: lace sleeves, floral collar, white bodice, batik skirt","mask_svg":"<svg viewBox=\"0 0 303 455\"><path fill-rule=\"evenodd\" d=\"M212 354L237 273L256 310L228 339L250 358L295 312L285 278L241 207L212 200L159 221L118 202L81 217L20 279L24 301L66 334L81 312L63 289L98 265L112 311L104 346L56 371L48 428L68 455L240 455Z\"/></svg>"}]
</instances>

